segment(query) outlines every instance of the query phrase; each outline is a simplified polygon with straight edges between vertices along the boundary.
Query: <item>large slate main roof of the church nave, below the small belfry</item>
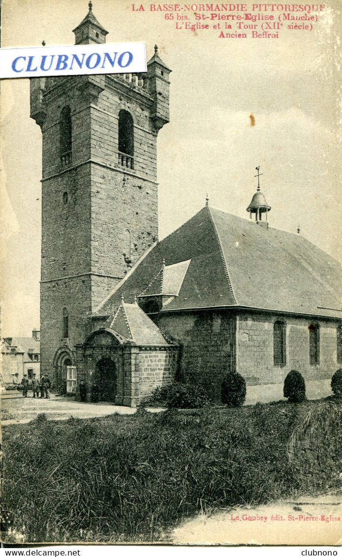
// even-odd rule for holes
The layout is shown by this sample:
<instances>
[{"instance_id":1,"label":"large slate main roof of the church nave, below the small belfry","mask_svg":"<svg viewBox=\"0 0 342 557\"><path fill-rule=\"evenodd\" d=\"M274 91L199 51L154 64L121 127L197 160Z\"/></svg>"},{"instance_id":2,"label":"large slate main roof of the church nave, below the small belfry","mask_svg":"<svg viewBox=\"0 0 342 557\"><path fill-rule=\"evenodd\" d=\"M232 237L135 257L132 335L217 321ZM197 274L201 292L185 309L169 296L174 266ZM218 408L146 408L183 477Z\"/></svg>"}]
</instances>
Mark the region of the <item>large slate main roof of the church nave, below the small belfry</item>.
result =
<instances>
[{"instance_id":1,"label":"large slate main roof of the church nave, below the small belfry","mask_svg":"<svg viewBox=\"0 0 342 557\"><path fill-rule=\"evenodd\" d=\"M250 307L342 318L339 262L303 236L204 207L158 242L95 314L112 312L122 293L133 300L170 264L191 260L179 291L163 311Z\"/></svg>"}]
</instances>

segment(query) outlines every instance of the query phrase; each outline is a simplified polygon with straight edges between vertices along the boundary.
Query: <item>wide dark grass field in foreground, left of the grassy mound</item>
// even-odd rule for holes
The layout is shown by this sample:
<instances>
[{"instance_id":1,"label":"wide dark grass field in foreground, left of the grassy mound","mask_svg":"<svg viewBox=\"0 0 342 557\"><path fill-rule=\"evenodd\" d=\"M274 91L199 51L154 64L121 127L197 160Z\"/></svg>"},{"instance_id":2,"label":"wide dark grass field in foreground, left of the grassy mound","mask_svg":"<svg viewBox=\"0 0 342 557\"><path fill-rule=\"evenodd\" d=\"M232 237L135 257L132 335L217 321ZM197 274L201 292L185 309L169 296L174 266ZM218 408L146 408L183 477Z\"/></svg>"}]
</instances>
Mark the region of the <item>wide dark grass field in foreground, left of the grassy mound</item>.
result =
<instances>
[{"instance_id":1,"label":"wide dark grass field in foreground, left of the grassy mound","mask_svg":"<svg viewBox=\"0 0 342 557\"><path fill-rule=\"evenodd\" d=\"M317 404L8 426L2 539L153 542L202 510L295 497L288 446Z\"/></svg>"}]
</instances>

